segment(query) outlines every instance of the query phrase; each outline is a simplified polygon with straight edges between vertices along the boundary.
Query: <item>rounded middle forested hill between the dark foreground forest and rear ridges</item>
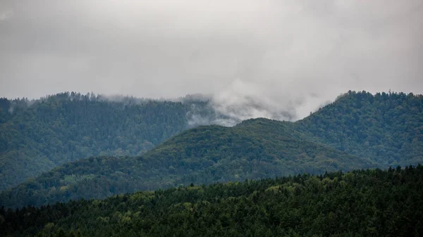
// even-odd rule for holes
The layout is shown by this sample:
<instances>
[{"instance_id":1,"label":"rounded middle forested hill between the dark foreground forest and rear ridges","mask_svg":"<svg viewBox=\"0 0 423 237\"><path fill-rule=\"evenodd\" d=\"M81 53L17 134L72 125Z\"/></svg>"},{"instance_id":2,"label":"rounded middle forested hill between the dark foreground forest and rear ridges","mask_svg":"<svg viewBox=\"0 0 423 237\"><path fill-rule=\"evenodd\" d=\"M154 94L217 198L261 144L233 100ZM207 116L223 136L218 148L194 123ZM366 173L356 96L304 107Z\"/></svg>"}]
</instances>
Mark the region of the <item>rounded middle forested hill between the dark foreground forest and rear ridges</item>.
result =
<instances>
[{"instance_id":1,"label":"rounded middle forested hill between the dark foreground forest and rear ridges","mask_svg":"<svg viewBox=\"0 0 423 237\"><path fill-rule=\"evenodd\" d=\"M266 119L189 129L137 158L90 158L53 169L2 192L0 205L43 205L180 184L376 167L367 159L305 141L291 129L290 122Z\"/></svg>"}]
</instances>

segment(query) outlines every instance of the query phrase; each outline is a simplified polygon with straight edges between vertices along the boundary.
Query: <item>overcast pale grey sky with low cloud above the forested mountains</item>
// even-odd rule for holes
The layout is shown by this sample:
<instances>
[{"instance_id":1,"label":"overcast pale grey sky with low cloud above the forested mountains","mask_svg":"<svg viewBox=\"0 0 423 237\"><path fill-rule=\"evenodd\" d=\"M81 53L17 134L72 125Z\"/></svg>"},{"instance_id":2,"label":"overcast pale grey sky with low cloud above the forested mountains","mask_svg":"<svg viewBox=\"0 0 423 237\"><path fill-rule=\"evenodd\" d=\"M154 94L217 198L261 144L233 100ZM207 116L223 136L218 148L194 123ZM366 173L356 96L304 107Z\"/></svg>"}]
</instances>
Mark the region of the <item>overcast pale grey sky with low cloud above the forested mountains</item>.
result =
<instances>
[{"instance_id":1,"label":"overcast pale grey sky with low cloud above the forested mountains","mask_svg":"<svg viewBox=\"0 0 423 237\"><path fill-rule=\"evenodd\" d=\"M0 97L212 96L298 120L348 90L423 94L423 0L1 0Z\"/></svg>"}]
</instances>

